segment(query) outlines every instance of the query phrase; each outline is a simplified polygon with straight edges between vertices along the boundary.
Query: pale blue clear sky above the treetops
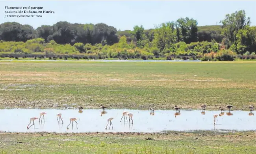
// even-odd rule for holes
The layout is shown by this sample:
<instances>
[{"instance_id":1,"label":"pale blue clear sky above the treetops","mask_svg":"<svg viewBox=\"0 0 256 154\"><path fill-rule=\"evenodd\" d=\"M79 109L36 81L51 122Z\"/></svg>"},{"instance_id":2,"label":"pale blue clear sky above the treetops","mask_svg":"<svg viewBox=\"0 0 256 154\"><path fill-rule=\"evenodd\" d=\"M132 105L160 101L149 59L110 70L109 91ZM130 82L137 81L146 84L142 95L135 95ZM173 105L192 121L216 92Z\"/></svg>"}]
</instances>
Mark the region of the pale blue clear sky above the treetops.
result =
<instances>
[{"instance_id":1,"label":"pale blue clear sky above the treetops","mask_svg":"<svg viewBox=\"0 0 256 154\"><path fill-rule=\"evenodd\" d=\"M40 13L41 18L5 18L8 7L43 7L55 13ZM144 29L154 28L163 22L178 18L193 18L202 25L219 25L226 14L245 10L251 25L256 25L256 1L0 1L0 24L19 22L34 29L41 25L53 25L59 21L79 24L104 23L117 30L132 30L135 25ZM15 11L11 9L12 11ZM20 9L19 9L20 10ZM41 10L41 11L42 11ZM28 11L28 10L26 10ZM39 10L35 10L39 11ZM24 13L23 13L24 14ZM24 14L32 15L32 14Z\"/></svg>"}]
</instances>

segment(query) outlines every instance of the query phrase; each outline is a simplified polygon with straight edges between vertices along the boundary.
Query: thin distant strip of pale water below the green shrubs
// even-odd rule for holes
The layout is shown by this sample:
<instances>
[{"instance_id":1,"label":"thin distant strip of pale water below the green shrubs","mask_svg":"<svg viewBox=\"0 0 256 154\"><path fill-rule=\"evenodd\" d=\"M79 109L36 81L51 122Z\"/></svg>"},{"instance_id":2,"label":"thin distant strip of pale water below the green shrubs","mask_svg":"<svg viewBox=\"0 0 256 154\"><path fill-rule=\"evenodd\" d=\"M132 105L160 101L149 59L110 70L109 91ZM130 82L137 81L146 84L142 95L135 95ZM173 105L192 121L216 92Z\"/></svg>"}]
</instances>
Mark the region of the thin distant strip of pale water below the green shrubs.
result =
<instances>
[{"instance_id":1,"label":"thin distant strip of pale water below the green shrubs","mask_svg":"<svg viewBox=\"0 0 256 154\"><path fill-rule=\"evenodd\" d=\"M12 60L0 60L0 61L12 61ZM17 60L17 61L44 61L44 62L200 62L201 60Z\"/></svg>"}]
</instances>

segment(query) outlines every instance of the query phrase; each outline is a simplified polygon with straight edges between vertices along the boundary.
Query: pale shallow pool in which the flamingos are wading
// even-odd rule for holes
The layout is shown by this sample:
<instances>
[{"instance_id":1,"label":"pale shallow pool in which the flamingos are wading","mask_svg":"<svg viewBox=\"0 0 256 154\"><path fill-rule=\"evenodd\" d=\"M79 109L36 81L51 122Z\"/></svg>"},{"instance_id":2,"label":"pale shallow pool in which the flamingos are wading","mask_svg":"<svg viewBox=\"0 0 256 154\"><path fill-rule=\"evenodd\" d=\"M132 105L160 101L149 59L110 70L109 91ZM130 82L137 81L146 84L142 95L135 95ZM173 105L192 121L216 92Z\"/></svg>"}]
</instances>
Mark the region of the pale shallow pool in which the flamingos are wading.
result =
<instances>
[{"instance_id":1,"label":"pale shallow pool in which the flamingos are wading","mask_svg":"<svg viewBox=\"0 0 256 154\"><path fill-rule=\"evenodd\" d=\"M122 109L106 109L106 114L101 116L101 109L84 109L82 113L78 109L0 109L0 130L7 132L161 132L163 130L255 130L256 118L249 111L231 111L233 115L228 116L227 112L223 116L218 116L214 125L213 114L220 114L221 111L202 111L192 110L180 111L180 115L175 117L176 111L154 111L154 115L150 115L150 111L140 110L122 110ZM122 119L122 112L127 111L133 114L134 124ZM45 122L39 124L39 120L35 120L35 129L33 126L29 130L26 126L30 122L30 118L39 118L40 112L46 112ZM57 121L56 114L62 113L64 124ZM77 118L78 129L74 122L67 130L69 118ZM113 117L112 127L105 130L107 119ZM129 120L129 118L128 118Z\"/></svg>"}]
</instances>

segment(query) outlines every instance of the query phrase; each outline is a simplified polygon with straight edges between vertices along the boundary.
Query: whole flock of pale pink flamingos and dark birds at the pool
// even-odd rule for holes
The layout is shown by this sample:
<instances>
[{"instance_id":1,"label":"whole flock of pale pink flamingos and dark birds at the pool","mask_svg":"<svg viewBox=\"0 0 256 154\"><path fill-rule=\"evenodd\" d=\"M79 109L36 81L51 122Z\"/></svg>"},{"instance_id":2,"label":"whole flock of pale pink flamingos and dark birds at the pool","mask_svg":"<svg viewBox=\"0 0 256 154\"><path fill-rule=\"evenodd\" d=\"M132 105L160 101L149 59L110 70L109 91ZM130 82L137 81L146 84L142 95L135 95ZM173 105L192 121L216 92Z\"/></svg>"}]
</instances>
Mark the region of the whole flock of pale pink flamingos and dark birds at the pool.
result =
<instances>
[{"instance_id":1,"label":"whole flock of pale pink flamingos and dark birds at the pool","mask_svg":"<svg viewBox=\"0 0 256 154\"><path fill-rule=\"evenodd\" d=\"M105 113L105 109L107 109L107 107L105 107L105 106L103 106L103 105L100 105L100 107L103 109L103 114ZM229 114L231 114L230 113L230 109L233 107L233 105L226 105L226 108L228 109L228 113ZM205 104L202 104L201 105L201 108L202 108L202 110L206 110L206 105ZM79 109L79 111L78 112L82 112L82 109L83 109L83 107L82 106L79 106L78 107L78 109ZM177 115L179 115L180 114L180 107L177 107L177 105L175 105L175 107L174 107L174 109L176 110L176 113L174 114L175 115L175 117L177 116ZM253 109L254 109L254 106L253 105L249 105L249 109L250 109L250 113L253 111ZM222 116L223 114L224 114L224 108L223 107L219 107L219 110L221 110L221 114L219 114L219 116ZM45 114L46 114L46 112L41 112L40 113L40 117L39 117L39 122L40 122L40 120L41 121L43 121L43 120L45 120ZM150 115L154 115L154 108L150 108ZM62 124L63 124L63 120L62 120L62 118L61 118L61 113L58 113L57 115L57 121L58 122L60 122L60 120L61 120L61 122L62 122ZM101 114L101 116L102 116L102 114ZM122 118L124 118L124 121L125 121L125 118L126 118L126 121L128 121L127 120L127 116L129 117L129 122L130 122L130 120L132 120L132 124L134 123L134 121L133 121L133 119L132 119L132 117L133 117L133 114L132 113L128 113L128 112L122 112ZM214 125L215 125L215 121L217 120L218 121L218 119L217 119L217 117L218 117L218 114L213 114L213 118L214 118ZM122 121L122 118L121 118L121 120L120 120L120 122ZM32 127L32 126L34 126L34 129L35 129L35 123L34 123L34 121L36 120L36 119L38 119L37 117L32 117L32 118L30 118L30 123L28 124L28 126L33 122L33 124L32 125L30 125L30 127ZM107 127L108 127L108 124L109 124L109 129L110 129L110 127L112 126L112 129L113 129L113 123L112 123L112 120L113 120L114 118L113 117L111 117L111 118L108 118L107 119L107 125L106 125L106 128L105 129L107 129ZM70 118L69 119L69 125L71 124L71 122L72 122L72 128L73 128L73 121L74 122L76 122L76 120L77 120L77 118ZM217 121L216 121L216 123L217 123ZM78 129L78 127L77 127L77 122L76 122L76 129ZM67 125L67 129L69 129L69 125ZM27 126L27 129L29 129L30 127L28 127Z\"/></svg>"}]
</instances>

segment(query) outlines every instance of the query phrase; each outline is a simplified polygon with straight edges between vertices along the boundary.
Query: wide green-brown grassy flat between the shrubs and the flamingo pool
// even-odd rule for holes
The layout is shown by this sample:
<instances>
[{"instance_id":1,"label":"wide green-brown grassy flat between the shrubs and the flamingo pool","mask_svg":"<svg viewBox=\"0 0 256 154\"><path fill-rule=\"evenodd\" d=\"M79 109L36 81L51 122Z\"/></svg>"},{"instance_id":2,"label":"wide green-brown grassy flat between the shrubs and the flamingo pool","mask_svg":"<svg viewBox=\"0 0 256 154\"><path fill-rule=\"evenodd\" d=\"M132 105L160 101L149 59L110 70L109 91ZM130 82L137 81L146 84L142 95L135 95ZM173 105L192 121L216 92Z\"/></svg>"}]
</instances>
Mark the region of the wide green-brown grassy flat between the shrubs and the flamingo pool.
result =
<instances>
[{"instance_id":1,"label":"wide green-brown grassy flat between the shrubs and the flamingo pool","mask_svg":"<svg viewBox=\"0 0 256 154\"><path fill-rule=\"evenodd\" d=\"M0 107L210 110L256 103L256 62L0 62Z\"/></svg>"}]
</instances>

